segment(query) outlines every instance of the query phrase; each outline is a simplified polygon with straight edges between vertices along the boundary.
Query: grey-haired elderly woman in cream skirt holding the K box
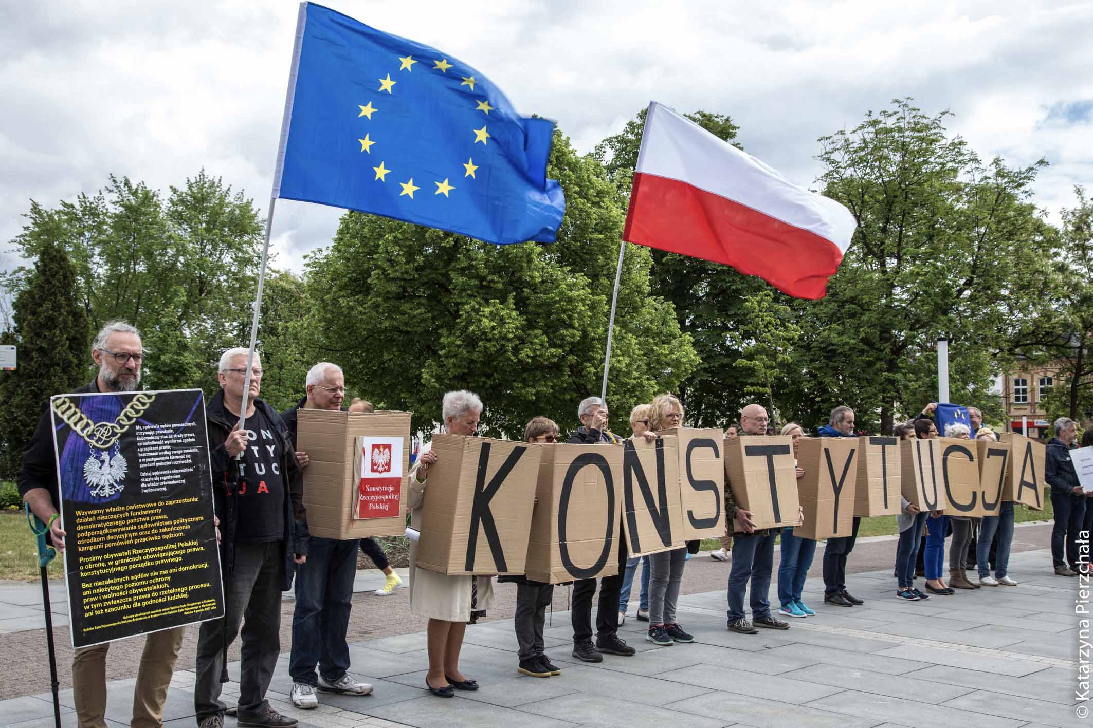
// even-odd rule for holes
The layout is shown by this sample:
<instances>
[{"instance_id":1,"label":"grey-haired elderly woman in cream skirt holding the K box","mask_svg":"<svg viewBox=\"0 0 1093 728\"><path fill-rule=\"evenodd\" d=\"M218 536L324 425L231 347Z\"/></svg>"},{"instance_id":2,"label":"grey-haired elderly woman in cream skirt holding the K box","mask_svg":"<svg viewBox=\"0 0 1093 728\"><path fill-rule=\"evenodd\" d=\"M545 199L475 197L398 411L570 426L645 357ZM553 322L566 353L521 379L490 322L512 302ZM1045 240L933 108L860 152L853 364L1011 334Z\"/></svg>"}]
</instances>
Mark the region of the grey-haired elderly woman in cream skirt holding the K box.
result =
<instances>
[{"instance_id":1,"label":"grey-haired elderly woman in cream skirt holding the K box","mask_svg":"<svg viewBox=\"0 0 1093 728\"><path fill-rule=\"evenodd\" d=\"M467 391L448 392L442 409L448 434L473 437L478 432L482 401ZM436 453L428 443L410 468L410 526L421 529L428 469ZM479 684L459 671L459 651L472 612L484 611L493 600L489 576L440 574L416 569L418 544L410 545L410 611L428 618L428 672L425 687L438 697L451 697L455 690L478 690Z\"/></svg>"}]
</instances>

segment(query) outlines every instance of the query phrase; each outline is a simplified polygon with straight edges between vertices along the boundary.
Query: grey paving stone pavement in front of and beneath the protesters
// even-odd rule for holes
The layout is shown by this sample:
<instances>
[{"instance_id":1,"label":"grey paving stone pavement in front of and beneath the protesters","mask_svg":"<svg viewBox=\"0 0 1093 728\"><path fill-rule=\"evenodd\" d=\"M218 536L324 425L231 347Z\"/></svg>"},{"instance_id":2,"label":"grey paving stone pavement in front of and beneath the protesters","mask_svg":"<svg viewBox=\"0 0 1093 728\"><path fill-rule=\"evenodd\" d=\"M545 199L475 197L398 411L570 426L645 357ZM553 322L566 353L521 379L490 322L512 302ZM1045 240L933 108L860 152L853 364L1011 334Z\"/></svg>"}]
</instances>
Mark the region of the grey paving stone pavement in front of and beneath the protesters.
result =
<instances>
[{"instance_id":1,"label":"grey paving stone pavement in front of and beneath the protesters","mask_svg":"<svg viewBox=\"0 0 1093 728\"><path fill-rule=\"evenodd\" d=\"M1046 563L1043 550L1014 553L1010 573L1019 587L921 602L894 598L890 570L858 573L850 587L866 604L849 609L824 605L822 583L810 580L804 600L816 617L753 636L725 629L724 590L690 594L681 597L678 617L694 644L656 647L644 640L646 623L628 619L621 634L638 654L606 655L598 665L569 655L568 614L555 612L545 643L563 671L549 679L516 672L512 620L496 620L467 631L461 667L482 689L447 701L425 692L424 633L355 641L351 671L375 685L373 695L320 694L317 709L298 711L289 701L283 654L269 697L305 728L1093 725L1079 717L1085 704L1076 696L1078 580L1055 576ZM227 702L238 694L238 663L230 675ZM132 683L109 683L108 725L128 721ZM192 685L192 670L175 673L165 725L195 725ZM46 693L0 701L0 720L51 726L49 700ZM74 726L71 690L61 702L62 725ZM234 726L228 718L226 727Z\"/></svg>"}]
</instances>

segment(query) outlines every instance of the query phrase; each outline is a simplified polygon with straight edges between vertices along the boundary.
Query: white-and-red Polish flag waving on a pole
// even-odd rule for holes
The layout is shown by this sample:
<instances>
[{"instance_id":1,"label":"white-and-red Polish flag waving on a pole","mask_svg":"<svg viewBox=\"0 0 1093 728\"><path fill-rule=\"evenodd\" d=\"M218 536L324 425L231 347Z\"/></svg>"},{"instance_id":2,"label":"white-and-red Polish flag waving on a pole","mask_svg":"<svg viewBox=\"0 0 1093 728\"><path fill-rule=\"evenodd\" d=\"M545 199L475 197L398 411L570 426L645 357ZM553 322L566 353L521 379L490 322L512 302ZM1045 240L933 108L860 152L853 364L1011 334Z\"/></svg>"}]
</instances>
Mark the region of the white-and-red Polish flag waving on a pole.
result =
<instances>
[{"instance_id":1,"label":"white-and-red Polish flag waving on a pole","mask_svg":"<svg viewBox=\"0 0 1093 728\"><path fill-rule=\"evenodd\" d=\"M839 203L649 104L624 240L731 265L797 298L823 298L855 227Z\"/></svg>"}]
</instances>

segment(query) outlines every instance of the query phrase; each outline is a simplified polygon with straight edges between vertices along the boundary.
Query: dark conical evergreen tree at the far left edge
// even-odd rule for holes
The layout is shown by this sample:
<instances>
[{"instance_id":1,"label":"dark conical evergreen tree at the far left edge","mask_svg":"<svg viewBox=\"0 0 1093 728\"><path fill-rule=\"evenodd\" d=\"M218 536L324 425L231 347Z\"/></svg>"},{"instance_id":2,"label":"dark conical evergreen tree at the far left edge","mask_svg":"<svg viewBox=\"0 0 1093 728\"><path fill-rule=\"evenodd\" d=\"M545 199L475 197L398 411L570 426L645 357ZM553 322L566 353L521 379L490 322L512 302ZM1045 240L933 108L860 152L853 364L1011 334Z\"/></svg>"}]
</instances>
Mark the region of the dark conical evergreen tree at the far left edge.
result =
<instances>
[{"instance_id":1,"label":"dark conical evergreen tree at the far left edge","mask_svg":"<svg viewBox=\"0 0 1093 728\"><path fill-rule=\"evenodd\" d=\"M14 301L14 330L4 344L19 347L15 371L0 372L0 478L13 478L23 450L55 394L87 381L91 332L75 299L75 271L64 250L43 242L34 271Z\"/></svg>"}]
</instances>

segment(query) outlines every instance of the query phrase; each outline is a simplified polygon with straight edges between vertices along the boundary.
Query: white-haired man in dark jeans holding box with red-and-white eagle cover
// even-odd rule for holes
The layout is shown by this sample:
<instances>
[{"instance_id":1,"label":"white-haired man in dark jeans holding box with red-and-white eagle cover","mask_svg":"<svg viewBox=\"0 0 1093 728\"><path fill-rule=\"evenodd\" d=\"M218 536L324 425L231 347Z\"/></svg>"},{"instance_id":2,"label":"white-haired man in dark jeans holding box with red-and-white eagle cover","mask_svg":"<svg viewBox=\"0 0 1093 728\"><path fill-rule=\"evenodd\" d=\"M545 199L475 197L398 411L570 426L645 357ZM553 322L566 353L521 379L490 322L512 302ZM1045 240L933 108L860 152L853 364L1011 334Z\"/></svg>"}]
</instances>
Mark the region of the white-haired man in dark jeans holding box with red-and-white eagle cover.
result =
<instances>
[{"instance_id":1,"label":"white-haired man in dark jeans holding box with red-and-white eagle cover","mask_svg":"<svg viewBox=\"0 0 1093 728\"><path fill-rule=\"evenodd\" d=\"M297 444L301 409L341 409L345 398L345 379L341 367L329 361L315 365L307 372L305 391L304 398L295 407L281 414L293 449ZM307 453L302 451L296 451L296 461L301 467L307 467L310 462ZM316 690L348 695L372 692L371 684L359 682L349 675L345 635L353 608L359 544L356 538L313 536L307 562L296 566L296 605L292 616L289 675L292 677L290 697L298 708L318 707ZM398 580L398 576L395 578Z\"/></svg>"}]
</instances>

